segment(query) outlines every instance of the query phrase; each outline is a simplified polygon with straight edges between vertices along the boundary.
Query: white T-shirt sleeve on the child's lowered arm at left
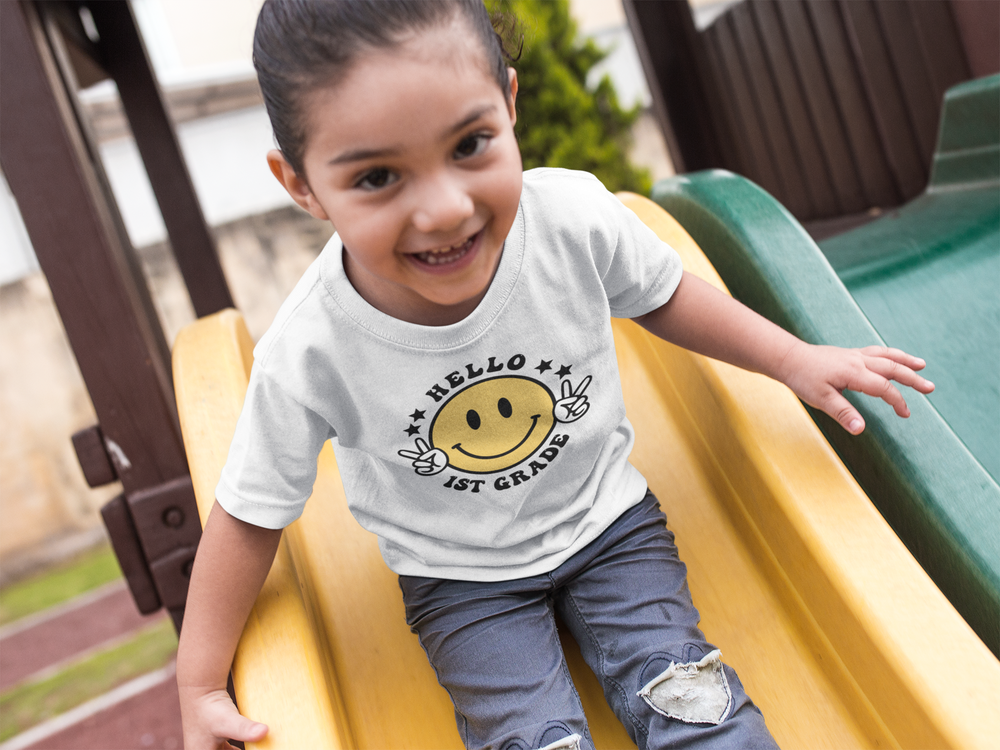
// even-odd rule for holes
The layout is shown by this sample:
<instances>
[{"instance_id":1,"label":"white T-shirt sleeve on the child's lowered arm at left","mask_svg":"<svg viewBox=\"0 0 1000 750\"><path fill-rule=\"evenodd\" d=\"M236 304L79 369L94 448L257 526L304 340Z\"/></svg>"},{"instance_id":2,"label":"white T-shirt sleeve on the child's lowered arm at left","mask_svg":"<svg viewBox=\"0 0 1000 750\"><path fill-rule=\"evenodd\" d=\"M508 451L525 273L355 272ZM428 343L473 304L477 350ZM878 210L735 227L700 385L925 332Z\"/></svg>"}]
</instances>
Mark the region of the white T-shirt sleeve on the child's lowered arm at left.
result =
<instances>
[{"instance_id":1,"label":"white T-shirt sleeve on the child's lowered arm at left","mask_svg":"<svg viewBox=\"0 0 1000 750\"><path fill-rule=\"evenodd\" d=\"M297 519L312 494L316 461L329 423L292 398L256 364L216 488L230 515L280 529Z\"/></svg>"}]
</instances>

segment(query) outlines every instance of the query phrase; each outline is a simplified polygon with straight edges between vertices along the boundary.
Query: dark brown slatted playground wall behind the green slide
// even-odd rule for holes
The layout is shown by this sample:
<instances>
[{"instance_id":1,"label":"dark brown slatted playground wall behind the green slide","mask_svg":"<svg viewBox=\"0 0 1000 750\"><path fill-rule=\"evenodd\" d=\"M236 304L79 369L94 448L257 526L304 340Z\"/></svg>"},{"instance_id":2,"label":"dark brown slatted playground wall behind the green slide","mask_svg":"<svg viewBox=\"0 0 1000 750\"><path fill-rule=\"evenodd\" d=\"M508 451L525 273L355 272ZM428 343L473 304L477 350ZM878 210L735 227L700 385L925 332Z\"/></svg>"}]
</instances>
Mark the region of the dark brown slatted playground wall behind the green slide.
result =
<instances>
[{"instance_id":1,"label":"dark brown slatted playground wall behind the green slide","mask_svg":"<svg viewBox=\"0 0 1000 750\"><path fill-rule=\"evenodd\" d=\"M1000 69L1000 6L623 0L677 172L727 169L835 234L927 184L945 91Z\"/></svg>"}]
</instances>

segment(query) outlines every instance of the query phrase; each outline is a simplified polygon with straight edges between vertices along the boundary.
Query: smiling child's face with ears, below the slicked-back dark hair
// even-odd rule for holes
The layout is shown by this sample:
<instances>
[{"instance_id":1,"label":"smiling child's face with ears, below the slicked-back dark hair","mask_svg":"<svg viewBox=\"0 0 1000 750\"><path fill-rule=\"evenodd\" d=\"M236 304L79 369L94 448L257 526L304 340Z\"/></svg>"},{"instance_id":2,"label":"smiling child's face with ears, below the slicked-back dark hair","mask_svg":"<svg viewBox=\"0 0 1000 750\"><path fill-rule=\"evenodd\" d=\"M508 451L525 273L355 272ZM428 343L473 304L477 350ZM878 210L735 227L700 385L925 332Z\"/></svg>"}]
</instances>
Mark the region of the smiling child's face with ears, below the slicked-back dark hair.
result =
<instances>
[{"instance_id":1,"label":"smiling child's face with ears, below the slicked-back dark hair","mask_svg":"<svg viewBox=\"0 0 1000 750\"><path fill-rule=\"evenodd\" d=\"M305 180L271 170L329 219L351 283L372 306L446 325L486 293L517 213L517 80L506 99L463 22L359 56L306 102Z\"/></svg>"}]
</instances>

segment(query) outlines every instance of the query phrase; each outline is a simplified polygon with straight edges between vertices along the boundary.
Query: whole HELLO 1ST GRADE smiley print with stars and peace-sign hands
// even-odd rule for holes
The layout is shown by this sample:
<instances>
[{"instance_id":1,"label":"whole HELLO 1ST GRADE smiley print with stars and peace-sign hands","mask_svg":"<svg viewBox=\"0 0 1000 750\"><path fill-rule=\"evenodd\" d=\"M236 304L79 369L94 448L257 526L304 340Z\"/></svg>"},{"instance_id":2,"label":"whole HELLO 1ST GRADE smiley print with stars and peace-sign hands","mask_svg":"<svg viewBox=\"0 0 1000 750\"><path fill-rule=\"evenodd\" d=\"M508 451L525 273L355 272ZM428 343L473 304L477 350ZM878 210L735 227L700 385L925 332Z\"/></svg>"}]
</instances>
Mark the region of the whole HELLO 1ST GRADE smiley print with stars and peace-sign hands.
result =
<instances>
[{"instance_id":1,"label":"whole HELLO 1ST GRADE smiley print with stars and peace-sign hands","mask_svg":"<svg viewBox=\"0 0 1000 750\"><path fill-rule=\"evenodd\" d=\"M574 386L572 365L557 370L552 360L543 359L533 368L539 377L531 377L520 372L526 363L523 354L515 354L506 363L496 359L490 357L482 367L468 364L464 370L448 374L425 394L436 411L415 409L409 415L411 424L405 432L415 438L415 445L400 450L399 455L412 462L417 474L434 476L446 468L466 474L494 474L538 454L538 460L529 464L534 476L569 440L567 435L552 435L556 425L575 422L590 409L585 394L591 377L577 380ZM548 371L558 396L544 382ZM433 416L428 417L430 412ZM422 428L426 437L420 437ZM515 484L523 481L513 479ZM506 489L504 483L501 477L494 484L497 489ZM466 489L470 484L472 491L478 492L485 480L452 476L445 486Z\"/></svg>"}]
</instances>

